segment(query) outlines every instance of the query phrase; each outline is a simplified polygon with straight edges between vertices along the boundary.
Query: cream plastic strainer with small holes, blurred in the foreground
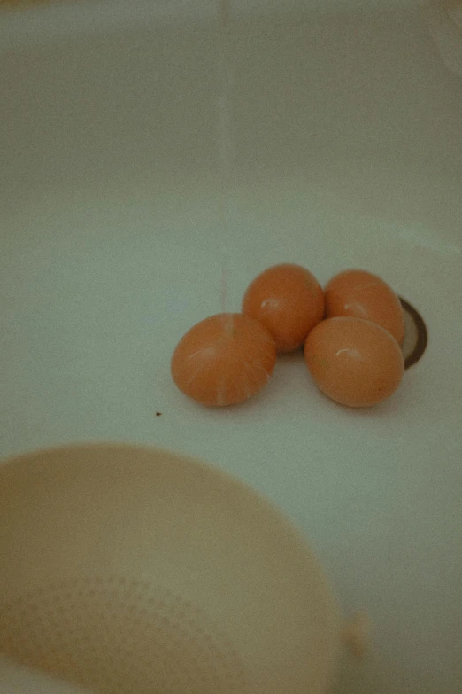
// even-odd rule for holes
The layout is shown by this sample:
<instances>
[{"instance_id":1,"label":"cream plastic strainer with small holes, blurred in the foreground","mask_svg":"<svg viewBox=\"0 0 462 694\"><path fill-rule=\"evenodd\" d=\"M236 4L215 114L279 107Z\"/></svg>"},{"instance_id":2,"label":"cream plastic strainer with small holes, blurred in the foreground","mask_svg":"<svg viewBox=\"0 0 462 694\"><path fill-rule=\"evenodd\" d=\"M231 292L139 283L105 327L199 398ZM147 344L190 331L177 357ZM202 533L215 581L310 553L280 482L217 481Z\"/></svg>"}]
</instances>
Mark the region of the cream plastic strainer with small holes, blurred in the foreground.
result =
<instances>
[{"instance_id":1,"label":"cream plastic strainer with small holes, blurred in the foreground","mask_svg":"<svg viewBox=\"0 0 462 694\"><path fill-rule=\"evenodd\" d=\"M270 503L157 449L0 466L0 652L100 694L318 694L335 601Z\"/></svg>"}]
</instances>

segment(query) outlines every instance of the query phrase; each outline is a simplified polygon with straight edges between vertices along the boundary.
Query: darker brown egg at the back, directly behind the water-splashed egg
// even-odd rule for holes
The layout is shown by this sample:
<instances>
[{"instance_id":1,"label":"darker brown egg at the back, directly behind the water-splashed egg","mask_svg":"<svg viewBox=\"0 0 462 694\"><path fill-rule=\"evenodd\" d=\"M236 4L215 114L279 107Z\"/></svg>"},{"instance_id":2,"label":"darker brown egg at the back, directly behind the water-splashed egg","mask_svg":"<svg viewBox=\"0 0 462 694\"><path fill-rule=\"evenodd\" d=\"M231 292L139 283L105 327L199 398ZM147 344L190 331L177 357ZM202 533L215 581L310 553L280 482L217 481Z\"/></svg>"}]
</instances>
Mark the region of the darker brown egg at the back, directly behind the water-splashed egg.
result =
<instances>
[{"instance_id":1,"label":"darker brown egg at the back, directly behind the water-splashed egg","mask_svg":"<svg viewBox=\"0 0 462 694\"><path fill-rule=\"evenodd\" d=\"M300 265L274 265L248 287L243 313L266 325L278 352L293 352L324 316L324 293L316 277Z\"/></svg>"}]
</instances>

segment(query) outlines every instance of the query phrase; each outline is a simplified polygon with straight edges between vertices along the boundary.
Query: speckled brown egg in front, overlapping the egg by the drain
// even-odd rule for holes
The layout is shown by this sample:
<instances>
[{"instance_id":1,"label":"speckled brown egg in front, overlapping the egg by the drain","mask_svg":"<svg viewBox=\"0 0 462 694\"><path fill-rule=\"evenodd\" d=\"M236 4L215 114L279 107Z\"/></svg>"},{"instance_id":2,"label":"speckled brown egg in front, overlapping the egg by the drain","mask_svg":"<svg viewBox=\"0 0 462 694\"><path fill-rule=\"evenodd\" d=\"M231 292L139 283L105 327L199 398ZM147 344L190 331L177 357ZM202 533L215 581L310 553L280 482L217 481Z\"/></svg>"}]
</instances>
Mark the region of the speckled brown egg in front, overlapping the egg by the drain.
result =
<instances>
[{"instance_id":1,"label":"speckled brown egg in front, overlapping the egg by the drain","mask_svg":"<svg viewBox=\"0 0 462 694\"><path fill-rule=\"evenodd\" d=\"M304 359L320 390L350 407L369 407L395 393L404 373L397 340L361 318L327 318L308 335Z\"/></svg>"}]
</instances>

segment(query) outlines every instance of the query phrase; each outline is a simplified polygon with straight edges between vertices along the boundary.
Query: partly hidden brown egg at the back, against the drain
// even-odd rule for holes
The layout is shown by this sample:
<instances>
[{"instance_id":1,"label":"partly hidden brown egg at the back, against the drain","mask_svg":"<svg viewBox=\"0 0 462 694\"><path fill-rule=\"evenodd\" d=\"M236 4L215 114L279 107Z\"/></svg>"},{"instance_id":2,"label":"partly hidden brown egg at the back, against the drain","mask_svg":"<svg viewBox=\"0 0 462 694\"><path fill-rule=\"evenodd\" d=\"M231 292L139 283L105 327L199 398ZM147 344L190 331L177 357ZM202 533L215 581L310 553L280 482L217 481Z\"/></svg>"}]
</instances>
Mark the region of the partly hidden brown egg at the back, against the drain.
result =
<instances>
[{"instance_id":1,"label":"partly hidden brown egg at the back, against the drain","mask_svg":"<svg viewBox=\"0 0 462 694\"><path fill-rule=\"evenodd\" d=\"M404 313L397 294L381 277L366 270L345 270L327 283L326 316L355 316L391 332L401 345Z\"/></svg>"}]
</instances>

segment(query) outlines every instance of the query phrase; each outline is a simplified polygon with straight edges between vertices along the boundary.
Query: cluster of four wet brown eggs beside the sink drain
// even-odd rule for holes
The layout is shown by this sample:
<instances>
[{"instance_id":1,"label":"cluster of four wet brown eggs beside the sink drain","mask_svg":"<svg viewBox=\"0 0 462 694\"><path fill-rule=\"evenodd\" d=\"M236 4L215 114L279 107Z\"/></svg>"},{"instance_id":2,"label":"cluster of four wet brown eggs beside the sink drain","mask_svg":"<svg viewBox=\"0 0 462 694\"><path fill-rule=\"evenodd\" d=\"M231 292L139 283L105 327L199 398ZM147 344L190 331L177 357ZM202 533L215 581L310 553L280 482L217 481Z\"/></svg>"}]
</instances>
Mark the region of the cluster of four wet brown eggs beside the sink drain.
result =
<instances>
[{"instance_id":1,"label":"cluster of four wet brown eggs beside the sink drain","mask_svg":"<svg viewBox=\"0 0 462 694\"><path fill-rule=\"evenodd\" d=\"M369 407L397 390L403 339L401 302L381 277L346 270L323 291L309 270L282 263L250 283L242 313L210 316L182 337L172 376L196 402L232 405L266 385L278 353L304 347L322 393L343 405Z\"/></svg>"}]
</instances>

